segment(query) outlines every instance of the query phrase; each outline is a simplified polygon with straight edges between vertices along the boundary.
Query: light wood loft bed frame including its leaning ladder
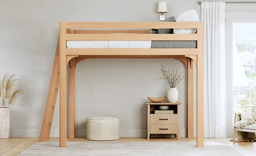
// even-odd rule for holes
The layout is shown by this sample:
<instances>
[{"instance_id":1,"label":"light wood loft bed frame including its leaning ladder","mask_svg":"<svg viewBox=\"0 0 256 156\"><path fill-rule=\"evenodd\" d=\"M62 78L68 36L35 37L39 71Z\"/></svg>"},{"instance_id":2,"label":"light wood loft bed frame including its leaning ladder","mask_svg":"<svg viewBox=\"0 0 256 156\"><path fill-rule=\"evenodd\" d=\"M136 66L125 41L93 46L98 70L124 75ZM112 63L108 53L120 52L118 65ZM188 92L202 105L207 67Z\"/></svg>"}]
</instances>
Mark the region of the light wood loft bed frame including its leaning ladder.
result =
<instances>
[{"instance_id":1,"label":"light wood loft bed frame including its leaning ladder","mask_svg":"<svg viewBox=\"0 0 256 156\"><path fill-rule=\"evenodd\" d=\"M149 34L150 28L195 28L196 34ZM80 29L80 30L78 30ZM83 30L81 30L83 29ZM85 30L87 29L87 30ZM94 30L88 30L94 29ZM122 30L121 30L122 29ZM131 30L132 29L132 30ZM137 29L137 30L134 30ZM145 30L147 29L147 30ZM197 66L197 147L203 147L203 22L60 22L39 141L49 138L59 89L59 146L66 147L66 67L69 63L69 138L75 137L75 68L87 58L176 58L187 67L187 137L193 138L193 61ZM137 33L137 34L113 34ZM69 40L196 40L197 48L69 49Z\"/></svg>"}]
</instances>

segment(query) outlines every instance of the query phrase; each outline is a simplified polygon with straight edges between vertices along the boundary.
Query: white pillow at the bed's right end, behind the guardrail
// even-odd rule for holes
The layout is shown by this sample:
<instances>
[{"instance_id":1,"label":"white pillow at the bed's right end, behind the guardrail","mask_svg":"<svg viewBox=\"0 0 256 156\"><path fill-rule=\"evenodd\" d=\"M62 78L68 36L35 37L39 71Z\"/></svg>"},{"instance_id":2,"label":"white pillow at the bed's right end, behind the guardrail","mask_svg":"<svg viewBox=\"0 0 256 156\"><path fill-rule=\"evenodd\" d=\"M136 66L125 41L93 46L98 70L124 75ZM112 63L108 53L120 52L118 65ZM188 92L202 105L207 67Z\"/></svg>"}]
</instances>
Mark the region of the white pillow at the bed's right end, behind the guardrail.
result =
<instances>
[{"instance_id":1,"label":"white pillow at the bed's right end, behind the guardrail","mask_svg":"<svg viewBox=\"0 0 256 156\"><path fill-rule=\"evenodd\" d=\"M196 10L190 10L182 13L176 22L199 22ZM174 29L174 34L194 34L196 29Z\"/></svg>"}]
</instances>

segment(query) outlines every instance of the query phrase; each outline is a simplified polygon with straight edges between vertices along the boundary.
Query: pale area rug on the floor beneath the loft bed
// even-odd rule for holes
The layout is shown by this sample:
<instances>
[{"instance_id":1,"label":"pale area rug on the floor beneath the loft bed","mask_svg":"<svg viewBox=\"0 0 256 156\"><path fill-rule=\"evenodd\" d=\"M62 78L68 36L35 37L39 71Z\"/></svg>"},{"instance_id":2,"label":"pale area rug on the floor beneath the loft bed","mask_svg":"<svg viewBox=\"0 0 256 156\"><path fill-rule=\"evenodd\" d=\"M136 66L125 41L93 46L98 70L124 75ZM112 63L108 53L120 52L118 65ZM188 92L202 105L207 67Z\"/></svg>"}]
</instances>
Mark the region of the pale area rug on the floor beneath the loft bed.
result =
<instances>
[{"instance_id":1,"label":"pale area rug on the floor beneath the loft bed","mask_svg":"<svg viewBox=\"0 0 256 156\"><path fill-rule=\"evenodd\" d=\"M37 142L18 156L242 156L225 143L205 142Z\"/></svg>"}]
</instances>

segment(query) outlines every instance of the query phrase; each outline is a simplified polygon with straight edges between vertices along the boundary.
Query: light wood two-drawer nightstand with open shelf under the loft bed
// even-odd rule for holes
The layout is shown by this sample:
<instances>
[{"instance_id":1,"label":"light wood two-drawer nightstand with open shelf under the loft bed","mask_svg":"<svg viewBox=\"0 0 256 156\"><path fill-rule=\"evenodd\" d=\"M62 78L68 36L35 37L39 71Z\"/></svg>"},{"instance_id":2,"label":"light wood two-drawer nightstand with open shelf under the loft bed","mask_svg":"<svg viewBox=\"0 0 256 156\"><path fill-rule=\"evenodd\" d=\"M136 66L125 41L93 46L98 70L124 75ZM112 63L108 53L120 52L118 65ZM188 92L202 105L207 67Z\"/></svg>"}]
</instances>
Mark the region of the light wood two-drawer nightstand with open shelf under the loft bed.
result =
<instances>
[{"instance_id":1,"label":"light wood two-drawer nightstand with open shelf under the loft bed","mask_svg":"<svg viewBox=\"0 0 256 156\"><path fill-rule=\"evenodd\" d=\"M180 139L180 102L146 102L147 105L147 137L150 134L176 134ZM174 114L155 114L159 106L169 106Z\"/></svg>"}]
</instances>

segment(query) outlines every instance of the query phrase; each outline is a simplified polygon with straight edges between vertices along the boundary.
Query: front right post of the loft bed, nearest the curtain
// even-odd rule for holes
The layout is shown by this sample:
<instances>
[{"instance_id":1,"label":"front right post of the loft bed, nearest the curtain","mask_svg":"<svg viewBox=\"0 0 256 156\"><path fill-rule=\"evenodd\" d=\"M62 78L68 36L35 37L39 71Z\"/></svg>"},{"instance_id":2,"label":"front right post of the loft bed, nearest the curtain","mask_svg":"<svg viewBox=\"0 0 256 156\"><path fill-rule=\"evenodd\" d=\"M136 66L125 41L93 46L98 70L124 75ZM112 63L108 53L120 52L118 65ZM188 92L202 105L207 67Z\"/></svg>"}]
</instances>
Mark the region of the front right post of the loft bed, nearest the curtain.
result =
<instances>
[{"instance_id":1,"label":"front right post of the loft bed, nearest the curtain","mask_svg":"<svg viewBox=\"0 0 256 156\"><path fill-rule=\"evenodd\" d=\"M197 30L197 147L203 147L203 22L197 23Z\"/></svg>"}]
</instances>

